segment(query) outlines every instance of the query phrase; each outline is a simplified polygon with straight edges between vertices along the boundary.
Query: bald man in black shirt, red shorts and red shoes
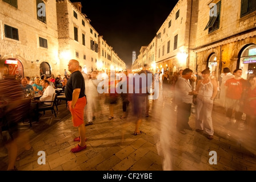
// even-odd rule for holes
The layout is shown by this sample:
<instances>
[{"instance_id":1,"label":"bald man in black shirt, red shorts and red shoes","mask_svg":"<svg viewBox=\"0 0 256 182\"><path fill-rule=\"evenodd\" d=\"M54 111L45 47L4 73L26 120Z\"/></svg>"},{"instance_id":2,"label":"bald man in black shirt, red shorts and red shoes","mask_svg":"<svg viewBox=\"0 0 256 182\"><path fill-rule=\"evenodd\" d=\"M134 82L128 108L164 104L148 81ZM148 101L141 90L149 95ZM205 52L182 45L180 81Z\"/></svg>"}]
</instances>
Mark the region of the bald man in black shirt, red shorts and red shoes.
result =
<instances>
[{"instance_id":1,"label":"bald man in black shirt, red shorts and red shoes","mask_svg":"<svg viewBox=\"0 0 256 182\"><path fill-rule=\"evenodd\" d=\"M86 105L85 80L82 73L79 72L79 62L77 60L70 60L67 66L71 73L65 88L67 107L72 115L73 126L78 127L79 132L79 137L74 138L74 141L79 142L79 144L70 150L75 153L86 148L85 123L83 122L83 109Z\"/></svg>"}]
</instances>

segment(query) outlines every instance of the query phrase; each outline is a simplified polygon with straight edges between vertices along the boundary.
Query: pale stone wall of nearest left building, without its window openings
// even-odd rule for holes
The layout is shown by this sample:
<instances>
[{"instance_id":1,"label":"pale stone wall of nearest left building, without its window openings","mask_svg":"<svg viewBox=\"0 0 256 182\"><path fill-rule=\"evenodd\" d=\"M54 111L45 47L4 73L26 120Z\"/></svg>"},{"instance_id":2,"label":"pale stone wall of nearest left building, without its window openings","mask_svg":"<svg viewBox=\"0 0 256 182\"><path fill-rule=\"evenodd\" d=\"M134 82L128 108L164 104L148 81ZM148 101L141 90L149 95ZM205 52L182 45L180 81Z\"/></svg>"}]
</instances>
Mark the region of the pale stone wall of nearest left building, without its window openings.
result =
<instances>
[{"instance_id":1,"label":"pale stone wall of nearest left building, without its window openings","mask_svg":"<svg viewBox=\"0 0 256 182\"><path fill-rule=\"evenodd\" d=\"M45 2L46 23L37 19L36 1L18 1L18 8L0 2L1 59L17 58L21 61L24 76L39 75L43 61L50 64L54 74L58 74L58 34L57 14L54 0ZM18 29L19 40L5 36L5 24ZM47 48L39 47L39 37L47 40ZM38 62L36 60L39 60Z\"/></svg>"}]
</instances>

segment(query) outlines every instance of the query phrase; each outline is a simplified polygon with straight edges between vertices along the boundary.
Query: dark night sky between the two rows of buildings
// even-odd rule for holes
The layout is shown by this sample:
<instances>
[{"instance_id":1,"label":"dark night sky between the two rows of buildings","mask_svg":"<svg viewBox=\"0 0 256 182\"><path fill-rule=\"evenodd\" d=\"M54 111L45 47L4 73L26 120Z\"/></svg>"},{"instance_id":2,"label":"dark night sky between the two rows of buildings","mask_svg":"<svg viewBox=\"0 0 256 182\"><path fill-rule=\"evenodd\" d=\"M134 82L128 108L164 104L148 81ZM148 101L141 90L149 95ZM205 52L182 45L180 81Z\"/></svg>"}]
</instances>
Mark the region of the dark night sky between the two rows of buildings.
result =
<instances>
[{"instance_id":1,"label":"dark night sky between the two rows of buildings","mask_svg":"<svg viewBox=\"0 0 256 182\"><path fill-rule=\"evenodd\" d=\"M103 35L103 39L113 47L128 68L132 64L133 50L138 56L139 49L148 46L177 2L178 0L81 1L82 13L88 16L90 24L99 35Z\"/></svg>"}]
</instances>

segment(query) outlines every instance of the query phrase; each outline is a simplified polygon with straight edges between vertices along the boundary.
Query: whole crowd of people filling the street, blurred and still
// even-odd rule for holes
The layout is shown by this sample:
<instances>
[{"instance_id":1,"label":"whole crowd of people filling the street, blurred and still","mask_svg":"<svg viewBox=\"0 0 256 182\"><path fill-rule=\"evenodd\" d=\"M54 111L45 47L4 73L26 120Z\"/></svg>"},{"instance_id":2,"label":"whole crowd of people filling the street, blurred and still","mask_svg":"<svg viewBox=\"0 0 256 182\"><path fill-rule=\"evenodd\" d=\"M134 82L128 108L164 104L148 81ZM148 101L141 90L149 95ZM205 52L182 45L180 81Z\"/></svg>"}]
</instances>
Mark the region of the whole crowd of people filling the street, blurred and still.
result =
<instances>
[{"instance_id":1,"label":"whole crowd of people filling the street, blurred and still","mask_svg":"<svg viewBox=\"0 0 256 182\"><path fill-rule=\"evenodd\" d=\"M224 68L221 74L221 80L217 79L216 72L210 72L207 68L202 72L195 73L193 70L186 68L181 69L179 72L159 72L156 76L150 72L150 67L145 64L143 69L135 75L146 76L146 85L139 82L139 92L135 92L136 84L129 77L129 71L123 71L111 75L106 73L102 77L101 73L94 70L90 73L82 71L82 67L77 60L70 60L68 70L71 73L65 75L58 75L54 77L41 77L36 76L34 79L30 77L20 78L14 76L13 81L20 85L20 91L27 93L31 92L42 94L42 99L39 101L51 100L51 95L55 93L55 89L62 88L65 90L67 99L67 108L72 115L73 126L78 127L79 136L74 138L74 141L79 144L71 149L71 152L79 152L86 148L86 127L93 125L97 117L102 118L102 104L109 106L108 121L112 122L116 117L125 119L129 115L127 107L131 103L133 106L133 114L137 116L135 123L134 135L142 134L142 117L150 117L149 113L149 96L154 94L150 93L150 89L159 86L162 92L163 100L166 98L173 98L173 104L177 108L177 122L176 129L181 134L186 134L186 130L194 130L189 125L191 116L191 107L195 106L195 131L203 132L207 135L208 139L214 138L214 126L212 111L215 100L219 100L219 104L226 109L227 122L232 123L242 120L242 114L246 114L246 125L250 133L254 133L256 129L256 76L250 76L247 80L242 78L242 69L235 69L230 73L229 68ZM152 77L149 75L152 74ZM101 76L99 78L99 76ZM9 78L9 77L8 77ZM104 87L104 93L99 93L99 84L107 78L107 87ZM134 79L134 77L133 77ZM149 80L151 80L151 82ZM125 84L121 84L126 81ZM0 85L5 84L6 79L0 80ZM120 89L127 92L117 92L117 86L121 84ZM155 85L157 84L157 85ZM111 85L115 85L114 87ZM119 85L120 86L120 85ZM143 88L145 87L146 88ZM5 89L0 87L0 102L1 105L8 105L7 103L13 100L11 93L3 97L6 92ZM130 89L132 88L132 89ZM142 90L146 92L142 92ZM107 92L108 90L108 92ZM129 91L133 90L133 93ZM17 93L17 92L16 92ZM17 95L18 97L18 95ZM122 102L122 113L115 115L114 108L118 102ZM5 103L5 104L4 104ZM1 107L2 109L3 107ZM3 112L2 112L3 113ZM3 114L0 118L3 118ZM16 119L17 120L17 119ZM17 122L17 121L15 121ZM1 126L2 127L2 126ZM11 140L13 141L13 140ZM13 143L7 142L7 146L13 146ZM30 146L26 142L26 150ZM11 155L10 156L15 156ZM14 169L14 157L10 160L8 169Z\"/></svg>"}]
</instances>

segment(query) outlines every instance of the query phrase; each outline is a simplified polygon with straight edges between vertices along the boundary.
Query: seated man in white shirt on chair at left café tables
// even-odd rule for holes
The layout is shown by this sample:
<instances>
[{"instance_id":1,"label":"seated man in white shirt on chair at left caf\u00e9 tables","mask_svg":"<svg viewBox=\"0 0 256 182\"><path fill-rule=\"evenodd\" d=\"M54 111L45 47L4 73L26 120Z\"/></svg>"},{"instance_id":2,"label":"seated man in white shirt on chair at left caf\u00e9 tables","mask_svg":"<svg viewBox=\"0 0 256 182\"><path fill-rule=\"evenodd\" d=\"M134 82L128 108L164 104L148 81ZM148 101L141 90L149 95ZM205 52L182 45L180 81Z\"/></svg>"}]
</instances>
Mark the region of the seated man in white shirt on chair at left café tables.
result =
<instances>
[{"instance_id":1,"label":"seated man in white shirt on chair at left caf\u00e9 tables","mask_svg":"<svg viewBox=\"0 0 256 182\"><path fill-rule=\"evenodd\" d=\"M42 86L43 88L45 88L45 91L43 92L43 96L40 97L40 99L37 100L36 102L52 101L53 94L55 93L55 89L53 88L53 86L49 85L48 80L42 80ZM39 103L39 107L49 106L49 105L51 105L51 102Z\"/></svg>"}]
</instances>

